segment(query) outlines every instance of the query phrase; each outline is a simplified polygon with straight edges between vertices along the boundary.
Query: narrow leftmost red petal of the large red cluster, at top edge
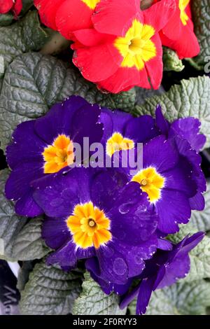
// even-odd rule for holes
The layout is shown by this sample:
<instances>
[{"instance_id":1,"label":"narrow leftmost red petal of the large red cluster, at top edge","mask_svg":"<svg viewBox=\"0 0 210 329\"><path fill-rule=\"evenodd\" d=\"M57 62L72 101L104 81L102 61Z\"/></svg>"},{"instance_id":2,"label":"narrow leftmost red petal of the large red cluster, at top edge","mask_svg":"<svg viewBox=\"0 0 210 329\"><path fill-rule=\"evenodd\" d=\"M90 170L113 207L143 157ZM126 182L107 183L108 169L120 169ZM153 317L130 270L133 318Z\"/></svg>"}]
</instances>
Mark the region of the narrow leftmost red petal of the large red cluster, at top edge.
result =
<instances>
[{"instance_id":1,"label":"narrow leftmost red petal of the large red cluster, at top edge","mask_svg":"<svg viewBox=\"0 0 210 329\"><path fill-rule=\"evenodd\" d=\"M55 16L59 6L65 0L34 0L34 6L38 9L41 22L51 29L57 30Z\"/></svg>"}]
</instances>

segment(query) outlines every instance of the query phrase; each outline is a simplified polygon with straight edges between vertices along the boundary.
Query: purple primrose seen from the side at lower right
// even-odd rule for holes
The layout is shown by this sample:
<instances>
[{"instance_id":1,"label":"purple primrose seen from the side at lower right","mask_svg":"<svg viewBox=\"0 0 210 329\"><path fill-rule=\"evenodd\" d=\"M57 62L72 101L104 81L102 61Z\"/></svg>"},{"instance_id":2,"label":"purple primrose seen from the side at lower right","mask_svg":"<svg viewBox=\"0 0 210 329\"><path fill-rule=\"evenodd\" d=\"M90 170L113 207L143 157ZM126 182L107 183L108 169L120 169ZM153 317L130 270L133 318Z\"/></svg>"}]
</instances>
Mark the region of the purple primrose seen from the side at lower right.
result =
<instances>
[{"instance_id":1,"label":"purple primrose seen from the side at lower right","mask_svg":"<svg viewBox=\"0 0 210 329\"><path fill-rule=\"evenodd\" d=\"M192 237L186 237L179 244L174 244L172 251L158 251L151 260L146 262L146 268L139 279L139 285L127 293L120 304L123 309L137 298L137 314L146 313L151 294L156 289L172 286L179 279L184 278L190 271L188 253L204 238L203 232Z\"/></svg>"}]
</instances>

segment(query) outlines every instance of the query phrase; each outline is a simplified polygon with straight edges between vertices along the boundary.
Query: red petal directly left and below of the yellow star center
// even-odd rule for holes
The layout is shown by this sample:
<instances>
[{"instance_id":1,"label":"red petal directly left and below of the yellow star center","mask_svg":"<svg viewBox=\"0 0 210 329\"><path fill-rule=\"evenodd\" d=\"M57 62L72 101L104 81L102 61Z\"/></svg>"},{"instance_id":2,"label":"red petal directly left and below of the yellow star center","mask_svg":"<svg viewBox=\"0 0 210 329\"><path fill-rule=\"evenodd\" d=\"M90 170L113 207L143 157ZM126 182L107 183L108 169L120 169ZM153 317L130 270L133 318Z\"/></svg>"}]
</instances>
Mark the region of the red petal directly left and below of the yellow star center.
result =
<instances>
[{"instance_id":1,"label":"red petal directly left and below of the yellow star center","mask_svg":"<svg viewBox=\"0 0 210 329\"><path fill-rule=\"evenodd\" d=\"M75 64L84 78L92 82L102 81L116 72L123 57L114 47L114 39L90 48L76 50L73 57Z\"/></svg>"}]
</instances>

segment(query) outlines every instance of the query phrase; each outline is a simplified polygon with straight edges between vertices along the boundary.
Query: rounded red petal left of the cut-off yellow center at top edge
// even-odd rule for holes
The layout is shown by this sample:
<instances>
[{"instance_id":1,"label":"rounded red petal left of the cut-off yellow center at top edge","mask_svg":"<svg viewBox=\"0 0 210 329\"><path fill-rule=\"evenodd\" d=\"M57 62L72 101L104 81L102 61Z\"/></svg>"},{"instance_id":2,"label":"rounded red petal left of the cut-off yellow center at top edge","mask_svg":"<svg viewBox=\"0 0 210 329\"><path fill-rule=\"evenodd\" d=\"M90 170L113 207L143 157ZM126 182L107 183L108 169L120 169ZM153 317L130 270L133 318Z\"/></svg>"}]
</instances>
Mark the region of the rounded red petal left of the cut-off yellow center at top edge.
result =
<instances>
[{"instance_id":1,"label":"rounded red petal left of the cut-off yellow center at top edge","mask_svg":"<svg viewBox=\"0 0 210 329\"><path fill-rule=\"evenodd\" d=\"M92 27L92 13L82 0L64 0L57 10L57 29L65 38L71 38L73 31Z\"/></svg>"}]
</instances>

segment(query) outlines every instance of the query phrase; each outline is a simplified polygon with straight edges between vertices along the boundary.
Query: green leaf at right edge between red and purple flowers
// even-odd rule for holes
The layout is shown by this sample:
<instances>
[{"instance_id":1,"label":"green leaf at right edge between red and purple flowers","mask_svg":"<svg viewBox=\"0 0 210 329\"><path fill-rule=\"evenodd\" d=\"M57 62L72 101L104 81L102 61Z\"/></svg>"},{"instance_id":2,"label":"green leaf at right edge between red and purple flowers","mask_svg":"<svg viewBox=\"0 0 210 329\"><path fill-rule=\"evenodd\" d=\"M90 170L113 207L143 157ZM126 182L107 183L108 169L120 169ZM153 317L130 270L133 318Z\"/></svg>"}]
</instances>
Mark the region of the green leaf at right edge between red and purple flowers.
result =
<instances>
[{"instance_id":1,"label":"green leaf at right edge between red and purple flowers","mask_svg":"<svg viewBox=\"0 0 210 329\"><path fill-rule=\"evenodd\" d=\"M160 97L146 100L141 106L136 106L134 115L150 114L154 116L157 104L161 104L165 118L172 122L177 118L193 116L199 118L201 131L207 136L206 147L210 146L210 78L199 76L189 80L181 80L181 85L173 85L169 92Z\"/></svg>"}]
</instances>

